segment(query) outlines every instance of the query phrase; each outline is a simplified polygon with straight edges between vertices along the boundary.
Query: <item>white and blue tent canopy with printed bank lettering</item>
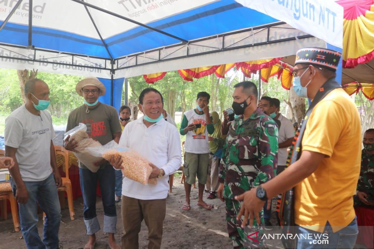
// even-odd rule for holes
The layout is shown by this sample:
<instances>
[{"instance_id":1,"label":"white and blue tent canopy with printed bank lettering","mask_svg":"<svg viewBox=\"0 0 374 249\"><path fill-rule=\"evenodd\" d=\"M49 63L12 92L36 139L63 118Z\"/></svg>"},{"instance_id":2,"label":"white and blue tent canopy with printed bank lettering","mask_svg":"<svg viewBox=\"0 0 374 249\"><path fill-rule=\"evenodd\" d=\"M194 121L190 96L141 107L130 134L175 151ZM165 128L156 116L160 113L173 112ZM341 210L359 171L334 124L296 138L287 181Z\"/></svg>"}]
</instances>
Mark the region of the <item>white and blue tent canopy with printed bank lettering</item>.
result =
<instances>
[{"instance_id":1,"label":"white and blue tent canopy with printed bank lettering","mask_svg":"<svg viewBox=\"0 0 374 249\"><path fill-rule=\"evenodd\" d=\"M341 48L343 7L332 0L0 0L0 24L1 67L111 78L104 101L118 106L123 78Z\"/></svg>"}]
</instances>

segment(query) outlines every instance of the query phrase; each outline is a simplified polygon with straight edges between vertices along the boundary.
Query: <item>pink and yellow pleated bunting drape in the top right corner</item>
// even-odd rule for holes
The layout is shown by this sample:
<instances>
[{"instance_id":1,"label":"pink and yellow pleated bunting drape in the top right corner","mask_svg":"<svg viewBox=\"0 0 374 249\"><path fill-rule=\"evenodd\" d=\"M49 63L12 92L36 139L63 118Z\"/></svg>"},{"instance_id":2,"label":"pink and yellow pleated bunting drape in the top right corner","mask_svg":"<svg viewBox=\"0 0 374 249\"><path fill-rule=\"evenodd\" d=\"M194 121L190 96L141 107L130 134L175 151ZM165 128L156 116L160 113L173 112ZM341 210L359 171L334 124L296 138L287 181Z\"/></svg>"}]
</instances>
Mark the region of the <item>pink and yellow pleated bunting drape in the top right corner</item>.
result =
<instances>
[{"instance_id":1,"label":"pink and yellow pleated bunting drape in the top right corner","mask_svg":"<svg viewBox=\"0 0 374 249\"><path fill-rule=\"evenodd\" d=\"M338 0L344 7L343 67L374 59L374 1Z\"/></svg>"}]
</instances>

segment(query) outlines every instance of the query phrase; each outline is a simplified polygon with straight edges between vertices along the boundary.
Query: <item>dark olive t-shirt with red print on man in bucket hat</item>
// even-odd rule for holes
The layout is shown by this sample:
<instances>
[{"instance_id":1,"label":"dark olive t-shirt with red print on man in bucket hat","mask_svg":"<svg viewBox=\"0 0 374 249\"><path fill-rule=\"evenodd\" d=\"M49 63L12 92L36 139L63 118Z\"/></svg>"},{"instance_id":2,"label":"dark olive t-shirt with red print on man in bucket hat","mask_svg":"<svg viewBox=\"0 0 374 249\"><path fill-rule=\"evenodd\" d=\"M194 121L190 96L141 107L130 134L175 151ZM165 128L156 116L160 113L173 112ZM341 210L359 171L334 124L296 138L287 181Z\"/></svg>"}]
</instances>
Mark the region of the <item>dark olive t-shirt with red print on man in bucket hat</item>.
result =
<instances>
[{"instance_id":1,"label":"dark olive t-shirt with red print on man in bucket hat","mask_svg":"<svg viewBox=\"0 0 374 249\"><path fill-rule=\"evenodd\" d=\"M113 134L121 132L121 125L118 122L118 114L113 106L98 103L93 109L86 113L86 106L82 105L70 112L66 131L70 131L79 123L86 124L87 134L99 141L102 145L113 140ZM105 165L102 165L102 168ZM80 168L86 168L79 162Z\"/></svg>"}]
</instances>

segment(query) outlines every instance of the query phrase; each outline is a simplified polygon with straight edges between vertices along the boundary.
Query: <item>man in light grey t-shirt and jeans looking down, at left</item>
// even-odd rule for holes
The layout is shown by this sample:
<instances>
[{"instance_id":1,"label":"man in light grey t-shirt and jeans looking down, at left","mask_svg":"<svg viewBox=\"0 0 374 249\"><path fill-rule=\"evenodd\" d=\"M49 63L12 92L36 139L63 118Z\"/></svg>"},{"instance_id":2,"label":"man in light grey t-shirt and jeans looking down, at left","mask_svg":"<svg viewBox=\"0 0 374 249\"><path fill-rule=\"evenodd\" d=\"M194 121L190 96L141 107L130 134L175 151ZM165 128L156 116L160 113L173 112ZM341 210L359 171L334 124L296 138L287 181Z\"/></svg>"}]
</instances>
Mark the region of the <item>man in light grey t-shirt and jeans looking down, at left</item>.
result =
<instances>
[{"instance_id":1,"label":"man in light grey t-shirt and jeans looking down, at left","mask_svg":"<svg viewBox=\"0 0 374 249\"><path fill-rule=\"evenodd\" d=\"M25 83L26 103L5 120L5 155L13 158L10 184L19 206L21 231L27 248L58 248L61 208L57 187L62 180L57 169L52 138L48 85L39 79ZM57 186L57 187L56 187ZM37 223L37 205L45 212L43 241Z\"/></svg>"}]
</instances>

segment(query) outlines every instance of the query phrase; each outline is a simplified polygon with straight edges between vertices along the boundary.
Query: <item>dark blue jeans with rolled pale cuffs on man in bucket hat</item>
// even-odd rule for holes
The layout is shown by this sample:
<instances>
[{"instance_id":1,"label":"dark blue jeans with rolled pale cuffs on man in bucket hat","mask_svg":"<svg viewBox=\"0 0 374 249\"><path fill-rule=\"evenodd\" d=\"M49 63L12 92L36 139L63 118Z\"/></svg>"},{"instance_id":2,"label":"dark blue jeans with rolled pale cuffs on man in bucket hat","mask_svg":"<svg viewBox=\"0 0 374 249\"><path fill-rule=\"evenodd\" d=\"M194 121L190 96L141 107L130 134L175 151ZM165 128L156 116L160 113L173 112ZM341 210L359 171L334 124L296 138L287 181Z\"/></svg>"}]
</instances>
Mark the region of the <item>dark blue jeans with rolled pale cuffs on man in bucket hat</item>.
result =
<instances>
[{"instance_id":1,"label":"dark blue jeans with rolled pale cuffs on man in bucket hat","mask_svg":"<svg viewBox=\"0 0 374 249\"><path fill-rule=\"evenodd\" d=\"M117 225L116 204L113 198L114 168L107 164L97 172L79 168L80 188L83 196L83 219L88 235L100 230L96 216L96 186L99 181L102 205L104 207L104 233L115 233Z\"/></svg>"}]
</instances>

